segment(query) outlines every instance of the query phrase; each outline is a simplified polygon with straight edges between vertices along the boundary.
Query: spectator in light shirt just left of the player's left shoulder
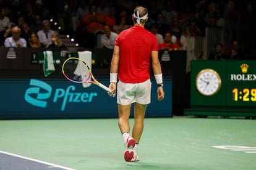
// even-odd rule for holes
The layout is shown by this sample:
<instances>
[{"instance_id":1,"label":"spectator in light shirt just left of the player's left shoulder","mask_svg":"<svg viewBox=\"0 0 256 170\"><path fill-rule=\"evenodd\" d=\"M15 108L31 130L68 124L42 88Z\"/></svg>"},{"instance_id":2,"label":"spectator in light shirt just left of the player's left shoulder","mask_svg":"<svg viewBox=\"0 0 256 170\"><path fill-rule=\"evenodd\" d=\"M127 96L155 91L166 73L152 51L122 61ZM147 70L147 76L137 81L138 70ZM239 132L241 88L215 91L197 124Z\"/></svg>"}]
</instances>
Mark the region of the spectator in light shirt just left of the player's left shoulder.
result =
<instances>
[{"instance_id":1,"label":"spectator in light shirt just left of the player's left shoulder","mask_svg":"<svg viewBox=\"0 0 256 170\"><path fill-rule=\"evenodd\" d=\"M114 49L114 41L116 41L118 34L111 31L109 25L104 26L104 34L100 39L100 48L101 49Z\"/></svg>"}]
</instances>

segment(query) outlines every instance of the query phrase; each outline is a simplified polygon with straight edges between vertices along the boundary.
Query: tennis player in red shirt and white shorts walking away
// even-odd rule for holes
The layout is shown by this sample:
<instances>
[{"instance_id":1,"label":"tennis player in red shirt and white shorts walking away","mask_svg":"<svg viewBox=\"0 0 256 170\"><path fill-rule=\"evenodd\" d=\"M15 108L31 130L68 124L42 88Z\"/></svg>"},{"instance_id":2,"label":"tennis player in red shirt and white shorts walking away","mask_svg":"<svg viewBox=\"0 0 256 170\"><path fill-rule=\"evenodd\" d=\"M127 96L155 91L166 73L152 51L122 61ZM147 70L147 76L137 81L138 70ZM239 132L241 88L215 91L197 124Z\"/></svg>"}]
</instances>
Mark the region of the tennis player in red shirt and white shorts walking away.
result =
<instances>
[{"instance_id":1,"label":"tennis player in red shirt and white shorts walking away","mask_svg":"<svg viewBox=\"0 0 256 170\"><path fill-rule=\"evenodd\" d=\"M147 105L151 102L150 60L158 84L158 100L164 99L163 75L158 60L156 36L145 30L148 10L138 6L132 15L134 26L122 31L115 41L109 89L117 90L119 128L124 138L126 161L139 161L137 147L143 132ZM117 83L118 74L118 83ZM113 95L114 97L115 95ZM134 103L134 127L130 136L130 110Z\"/></svg>"}]
</instances>

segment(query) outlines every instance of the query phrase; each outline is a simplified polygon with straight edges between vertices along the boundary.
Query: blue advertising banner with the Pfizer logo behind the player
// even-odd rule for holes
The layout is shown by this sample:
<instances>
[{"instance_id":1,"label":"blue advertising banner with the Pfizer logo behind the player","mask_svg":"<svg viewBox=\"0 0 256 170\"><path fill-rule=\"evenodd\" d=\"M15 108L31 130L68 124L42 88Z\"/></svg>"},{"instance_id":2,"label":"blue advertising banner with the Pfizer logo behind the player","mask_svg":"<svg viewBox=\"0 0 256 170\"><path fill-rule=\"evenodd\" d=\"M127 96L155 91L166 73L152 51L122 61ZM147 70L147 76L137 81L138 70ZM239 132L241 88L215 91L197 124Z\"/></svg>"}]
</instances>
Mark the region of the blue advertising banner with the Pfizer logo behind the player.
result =
<instances>
[{"instance_id":1,"label":"blue advertising banner with the Pfizer logo behind the player","mask_svg":"<svg viewBox=\"0 0 256 170\"><path fill-rule=\"evenodd\" d=\"M108 86L108 79L99 79ZM172 80L164 80L166 97L158 102L152 82L151 103L146 117L172 116ZM0 119L117 118L116 97L92 84L66 79L0 79Z\"/></svg>"}]
</instances>

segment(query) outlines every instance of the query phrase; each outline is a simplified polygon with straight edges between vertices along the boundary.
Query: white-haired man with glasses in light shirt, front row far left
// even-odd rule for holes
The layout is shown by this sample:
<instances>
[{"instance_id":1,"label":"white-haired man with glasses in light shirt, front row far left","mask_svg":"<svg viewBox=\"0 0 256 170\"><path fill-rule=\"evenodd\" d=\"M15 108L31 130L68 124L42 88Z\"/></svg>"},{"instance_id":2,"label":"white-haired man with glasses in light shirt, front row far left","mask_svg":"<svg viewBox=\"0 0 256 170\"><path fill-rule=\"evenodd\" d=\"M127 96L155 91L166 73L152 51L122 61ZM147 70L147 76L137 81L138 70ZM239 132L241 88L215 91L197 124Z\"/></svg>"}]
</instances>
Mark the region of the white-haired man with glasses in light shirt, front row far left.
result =
<instances>
[{"instance_id":1,"label":"white-haired man with glasses in light shirt, front row far left","mask_svg":"<svg viewBox=\"0 0 256 170\"><path fill-rule=\"evenodd\" d=\"M12 28L12 36L4 41L4 47L27 47L27 41L24 38L20 38L20 34L19 26L14 26Z\"/></svg>"}]
</instances>

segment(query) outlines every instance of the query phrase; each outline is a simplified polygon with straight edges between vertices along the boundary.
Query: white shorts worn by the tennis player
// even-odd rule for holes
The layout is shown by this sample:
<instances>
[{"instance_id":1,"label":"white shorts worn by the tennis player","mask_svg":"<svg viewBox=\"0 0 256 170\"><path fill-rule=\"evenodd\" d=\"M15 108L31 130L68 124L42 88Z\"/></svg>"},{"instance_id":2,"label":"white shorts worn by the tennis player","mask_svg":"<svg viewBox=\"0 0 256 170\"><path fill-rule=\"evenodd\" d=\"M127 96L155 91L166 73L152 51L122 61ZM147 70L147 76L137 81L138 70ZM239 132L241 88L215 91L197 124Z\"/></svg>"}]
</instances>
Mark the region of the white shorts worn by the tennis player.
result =
<instances>
[{"instance_id":1,"label":"white shorts worn by the tennis player","mask_svg":"<svg viewBox=\"0 0 256 170\"><path fill-rule=\"evenodd\" d=\"M142 83L117 83L117 104L129 105L130 103L147 105L151 102L151 81Z\"/></svg>"}]
</instances>

